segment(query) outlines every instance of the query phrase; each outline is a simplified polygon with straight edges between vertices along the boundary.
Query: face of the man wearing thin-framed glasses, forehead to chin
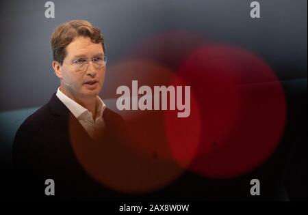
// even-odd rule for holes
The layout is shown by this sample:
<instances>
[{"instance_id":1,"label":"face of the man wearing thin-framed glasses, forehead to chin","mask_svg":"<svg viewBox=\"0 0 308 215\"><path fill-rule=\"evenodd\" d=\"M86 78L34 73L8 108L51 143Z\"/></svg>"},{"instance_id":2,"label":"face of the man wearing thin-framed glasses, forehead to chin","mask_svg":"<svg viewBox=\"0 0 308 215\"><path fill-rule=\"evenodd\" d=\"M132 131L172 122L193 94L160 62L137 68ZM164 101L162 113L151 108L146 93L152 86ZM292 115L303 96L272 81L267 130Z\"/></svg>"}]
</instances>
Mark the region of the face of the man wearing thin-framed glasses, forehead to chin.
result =
<instances>
[{"instance_id":1,"label":"face of the man wearing thin-framed glasses, forehead to chin","mask_svg":"<svg viewBox=\"0 0 308 215\"><path fill-rule=\"evenodd\" d=\"M66 93L75 98L92 98L99 94L105 80L105 66L97 66L88 61L88 67L80 69L78 62L85 59L101 59L104 57L101 44L93 43L90 38L77 37L66 46L66 57L61 66L62 85ZM89 81L97 83L89 84Z\"/></svg>"}]
</instances>

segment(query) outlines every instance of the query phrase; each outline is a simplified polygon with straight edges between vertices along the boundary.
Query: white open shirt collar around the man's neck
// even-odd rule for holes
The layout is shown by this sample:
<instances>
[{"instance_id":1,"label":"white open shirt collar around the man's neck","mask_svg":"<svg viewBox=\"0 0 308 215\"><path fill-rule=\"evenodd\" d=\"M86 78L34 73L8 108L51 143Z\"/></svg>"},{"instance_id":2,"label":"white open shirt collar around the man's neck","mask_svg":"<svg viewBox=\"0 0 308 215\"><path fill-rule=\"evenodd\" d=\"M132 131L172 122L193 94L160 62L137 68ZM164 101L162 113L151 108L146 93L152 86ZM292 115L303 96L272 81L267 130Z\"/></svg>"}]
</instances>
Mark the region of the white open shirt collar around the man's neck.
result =
<instances>
[{"instance_id":1,"label":"white open shirt collar around the man's neck","mask_svg":"<svg viewBox=\"0 0 308 215\"><path fill-rule=\"evenodd\" d=\"M57 88L57 94L56 94L57 98L59 98L63 104L65 104L65 106L68 108L68 110L70 110L71 113L73 113L73 115L78 119L79 117L81 117L81 115L83 113L90 113L90 111L88 111L88 109L84 108L84 106L81 106L80 104L78 104L77 102L75 102L74 100L72 100L71 98L69 98L68 96L66 96L61 90L60 87ZM103 100L101 100L101 98L99 98L99 96L97 96L97 104L99 104L97 106L97 118L99 117L103 117L103 111L106 109L106 104L103 102Z\"/></svg>"}]
</instances>

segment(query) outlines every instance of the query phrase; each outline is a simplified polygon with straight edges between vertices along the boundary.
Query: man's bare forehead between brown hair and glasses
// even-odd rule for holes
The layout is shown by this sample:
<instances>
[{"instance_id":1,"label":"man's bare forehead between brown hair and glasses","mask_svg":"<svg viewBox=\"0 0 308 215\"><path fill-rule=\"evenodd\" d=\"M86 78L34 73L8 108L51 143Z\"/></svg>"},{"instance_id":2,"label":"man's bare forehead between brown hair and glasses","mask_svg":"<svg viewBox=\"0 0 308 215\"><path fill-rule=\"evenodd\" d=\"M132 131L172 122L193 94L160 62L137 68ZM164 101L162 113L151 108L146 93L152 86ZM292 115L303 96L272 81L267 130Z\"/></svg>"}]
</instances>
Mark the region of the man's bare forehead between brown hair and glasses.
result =
<instances>
[{"instance_id":1,"label":"man's bare forehead between brown hair and glasses","mask_svg":"<svg viewBox=\"0 0 308 215\"><path fill-rule=\"evenodd\" d=\"M90 56L101 53L104 53L102 45L100 43L93 43L90 38L77 37L66 46L66 54L70 57L79 55Z\"/></svg>"}]
</instances>

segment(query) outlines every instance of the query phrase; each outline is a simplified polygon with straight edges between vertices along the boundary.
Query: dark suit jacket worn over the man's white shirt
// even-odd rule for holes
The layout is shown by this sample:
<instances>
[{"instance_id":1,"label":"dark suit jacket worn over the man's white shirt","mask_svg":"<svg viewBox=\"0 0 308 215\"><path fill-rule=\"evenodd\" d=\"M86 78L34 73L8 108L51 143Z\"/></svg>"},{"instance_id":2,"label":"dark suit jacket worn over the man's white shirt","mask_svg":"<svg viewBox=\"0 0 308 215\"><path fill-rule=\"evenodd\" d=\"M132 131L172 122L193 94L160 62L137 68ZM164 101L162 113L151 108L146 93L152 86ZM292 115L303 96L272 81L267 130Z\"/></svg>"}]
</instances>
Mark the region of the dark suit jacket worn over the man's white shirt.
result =
<instances>
[{"instance_id":1,"label":"dark suit jacket worn over the man's white shirt","mask_svg":"<svg viewBox=\"0 0 308 215\"><path fill-rule=\"evenodd\" d=\"M105 109L102 131L105 142L116 143L124 121ZM81 166L74 145L93 145L94 141L67 107L53 94L51 100L27 117L16 132L13 163L19 196L46 197L45 180L55 181L55 197L101 197L110 199L118 193L104 189ZM49 197L50 198L50 197Z\"/></svg>"}]
</instances>

